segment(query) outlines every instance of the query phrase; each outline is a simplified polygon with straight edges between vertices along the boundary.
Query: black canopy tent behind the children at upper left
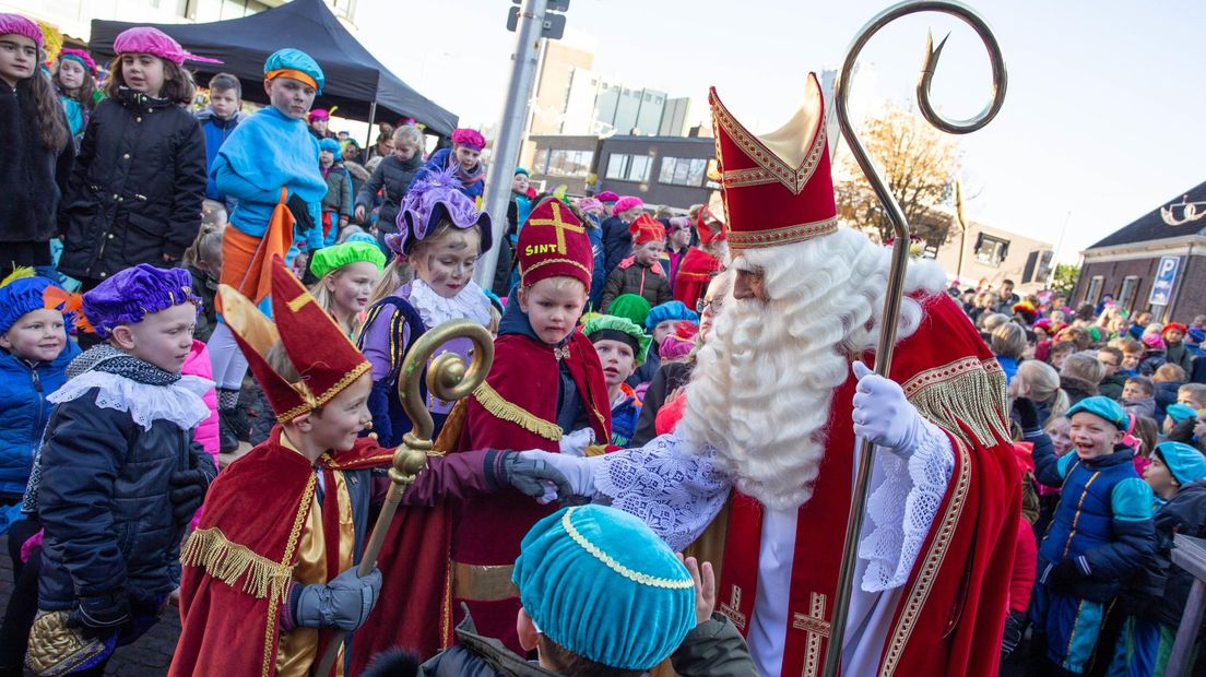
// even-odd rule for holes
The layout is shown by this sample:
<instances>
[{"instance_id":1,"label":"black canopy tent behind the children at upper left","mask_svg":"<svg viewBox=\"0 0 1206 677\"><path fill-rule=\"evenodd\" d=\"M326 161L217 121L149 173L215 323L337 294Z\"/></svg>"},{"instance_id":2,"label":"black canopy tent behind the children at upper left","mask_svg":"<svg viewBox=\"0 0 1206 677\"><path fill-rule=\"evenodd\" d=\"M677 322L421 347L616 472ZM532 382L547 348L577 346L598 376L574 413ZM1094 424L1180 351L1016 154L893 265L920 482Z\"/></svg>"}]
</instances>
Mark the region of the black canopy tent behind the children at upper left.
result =
<instances>
[{"instance_id":1,"label":"black canopy tent behind the children at upper left","mask_svg":"<svg viewBox=\"0 0 1206 677\"><path fill-rule=\"evenodd\" d=\"M199 24L140 24L92 22L88 49L94 55L112 55L113 40L135 25L153 25L203 57L221 59L221 64L187 61L186 66L200 82L219 72L238 76L242 95L267 104L262 86L264 60L285 47L295 47L314 57L327 77L322 96L315 106L339 106L345 118L397 120L415 118L432 133L450 136L457 116L422 96L377 61L352 34L347 33L322 0L293 0L275 7L224 22Z\"/></svg>"}]
</instances>

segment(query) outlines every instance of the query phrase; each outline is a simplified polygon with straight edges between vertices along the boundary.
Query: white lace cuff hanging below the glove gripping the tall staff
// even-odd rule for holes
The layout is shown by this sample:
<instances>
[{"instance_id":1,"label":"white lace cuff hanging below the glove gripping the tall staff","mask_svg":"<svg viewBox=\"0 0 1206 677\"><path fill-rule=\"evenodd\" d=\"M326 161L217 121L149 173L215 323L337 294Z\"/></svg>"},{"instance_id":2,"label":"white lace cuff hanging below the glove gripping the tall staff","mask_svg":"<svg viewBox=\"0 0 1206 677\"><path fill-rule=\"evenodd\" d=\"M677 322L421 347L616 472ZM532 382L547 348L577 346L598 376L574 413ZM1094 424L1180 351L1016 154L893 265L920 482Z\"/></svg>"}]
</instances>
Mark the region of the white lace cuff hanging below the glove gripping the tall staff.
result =
<instances>
[{"instance_id":1,"label":"white lace cuff hanging below the glove gripping the tall staff","mask_svg":"<svg viewBox=\"0 0 1206 677\"><path fill-rule=\"evenodd\" d=\"M863 532L867 523L873 529L859 543L859 557L867 563L863 590L890 590L908 581L954 469L950 440L929 420L913 449L876 448Z\"/></svg>"}]
</instances>

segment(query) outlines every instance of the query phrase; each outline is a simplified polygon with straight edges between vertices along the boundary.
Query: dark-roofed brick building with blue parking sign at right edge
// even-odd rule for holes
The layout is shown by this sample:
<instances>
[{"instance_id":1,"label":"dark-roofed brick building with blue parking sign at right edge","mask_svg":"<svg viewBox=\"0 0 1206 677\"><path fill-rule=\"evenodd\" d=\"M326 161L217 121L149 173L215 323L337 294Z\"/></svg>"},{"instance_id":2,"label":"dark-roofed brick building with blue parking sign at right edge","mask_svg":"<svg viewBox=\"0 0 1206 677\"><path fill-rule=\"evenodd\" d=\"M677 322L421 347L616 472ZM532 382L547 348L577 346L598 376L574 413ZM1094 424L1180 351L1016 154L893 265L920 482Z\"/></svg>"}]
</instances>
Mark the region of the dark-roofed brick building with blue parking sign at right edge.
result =
<instances>
[{"instance_id":1,"label":"dark-roofed brick building with blue parking sign at right edge","mask_svg":"<svg viewBox=\"0 0 1206 677\"><path fill-rule=\"evenodd\" d=\"M1196 217L1196 218L1195 218ZM1081 252L1072 305L1111 294L1160 322L1206 314L1206 183L1143 214ZM1154 294L1153 294L1154 287Z\"/></svg>"}]
</instances>

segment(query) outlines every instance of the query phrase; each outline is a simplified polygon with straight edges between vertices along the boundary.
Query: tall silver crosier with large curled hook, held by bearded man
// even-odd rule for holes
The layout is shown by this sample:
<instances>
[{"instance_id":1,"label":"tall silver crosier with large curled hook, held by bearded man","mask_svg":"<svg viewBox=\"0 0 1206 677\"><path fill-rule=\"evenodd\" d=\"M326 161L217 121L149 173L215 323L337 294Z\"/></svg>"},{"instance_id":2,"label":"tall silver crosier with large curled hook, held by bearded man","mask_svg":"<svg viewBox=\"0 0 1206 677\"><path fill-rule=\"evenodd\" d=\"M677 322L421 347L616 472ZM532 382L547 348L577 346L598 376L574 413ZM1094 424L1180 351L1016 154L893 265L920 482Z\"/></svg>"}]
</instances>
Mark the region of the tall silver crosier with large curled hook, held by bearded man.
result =
<instances>
[{"instance_id":1,"label":"tall silver crosier with large curled hook, held by bearded man","mask_svg":"<svg viewBox=\"0 0 1206 677\"><path fill-rule=\"evenodd\" d=\"M962 19L972 27L988 48L989 60L993 64L993 99L974 117L962 120L949 120L930 105L930 83L933 81L933 72L938 66L938 57L947 43L946 39L933 48L932 36L926 45L925 61L921 65L921 77L917 83L917 101L921 114L933 126L948 134L967 134L976 131L996 117L1005 104L1005 90L1007 76L1005 71L1005 58L1001 55L1001 47L996 42L996 36L988 27L988 23L971 7L955 0L908 0L888 7L862 27L855 36L850 48L847 49L845 60L842 63L842 73L837 82L837 119L845 135L847 143L854 153L854 159L867 176L876 195L888 211L895 231L892 242L892 263L888 275L888 295L884 300L884 314L880 322L879 345L876 349L876 373L888 377L892 364L892 348L896 343L896 329L900 319L902 290L904 289L904 272L908 266L909 224L904 218L904 212L892 195L883 176L876 167L874 161L867 154L867 149L855 134L850 122L849 98L850 77L854 73L854 64L859 59L859 53L871 37L889 23L907 14L918 12L943 12ZM842 569L838 573L836 601L833 607L833 620L831 625L831 637L825 653L825 675L835 677L842 663L842 637L845 631L847 616L850 607L851 584L854 583L854 567L859 552L860 526L867 510L867 495L870 489L872 454L874 446L867 440L861 440L859 446L859 472L855 479L854 502L850 506L849 518L845 525L845 542L842 551Z\"/></svg>"}]
</instances>

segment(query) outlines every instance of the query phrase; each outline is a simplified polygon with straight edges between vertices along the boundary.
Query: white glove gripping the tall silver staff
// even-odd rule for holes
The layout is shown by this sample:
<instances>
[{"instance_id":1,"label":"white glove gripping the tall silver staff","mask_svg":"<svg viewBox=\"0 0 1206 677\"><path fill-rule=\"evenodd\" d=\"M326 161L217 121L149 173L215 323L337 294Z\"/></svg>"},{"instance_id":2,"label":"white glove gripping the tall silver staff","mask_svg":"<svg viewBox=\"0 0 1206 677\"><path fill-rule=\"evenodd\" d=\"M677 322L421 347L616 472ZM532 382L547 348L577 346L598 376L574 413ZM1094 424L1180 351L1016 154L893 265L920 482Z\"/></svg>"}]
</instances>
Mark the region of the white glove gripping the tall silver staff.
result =
<instances>
[{"instance_id":1,"label":"white glove gripping the tall silver staff","mask_svg":"<svg viewBox=\"0 0 1206 677\"><path fill-rule=\"evenodd\" d=\"M921 438L925 419L890 378L878 376L867 365L853 365L859 385L854 393L854 434L879 447L911 454Z\"/></svg>"}]
</instances>

